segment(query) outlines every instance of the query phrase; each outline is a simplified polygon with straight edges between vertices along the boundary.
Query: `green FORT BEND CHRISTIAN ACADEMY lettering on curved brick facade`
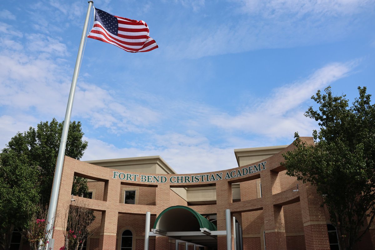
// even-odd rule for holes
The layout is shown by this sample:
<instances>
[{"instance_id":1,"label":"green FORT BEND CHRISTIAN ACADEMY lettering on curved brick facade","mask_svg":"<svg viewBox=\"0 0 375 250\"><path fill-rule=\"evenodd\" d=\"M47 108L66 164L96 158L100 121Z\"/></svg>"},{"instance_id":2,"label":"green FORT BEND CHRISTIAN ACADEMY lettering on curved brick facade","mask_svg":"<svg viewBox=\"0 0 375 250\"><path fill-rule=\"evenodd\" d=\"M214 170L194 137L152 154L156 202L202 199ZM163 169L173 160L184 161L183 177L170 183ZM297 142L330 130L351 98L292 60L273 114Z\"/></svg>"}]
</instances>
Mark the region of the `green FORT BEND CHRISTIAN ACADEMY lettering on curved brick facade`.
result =
<instances>
[{"instance_id":1,"label":"green FORT BEND CHRISTIAN ACADEMY lettering on curved brick facade","mask_svg":"<svg viewBox=\"0 0 375 250\"><path fill-rule=\"evenodd\" d=\"M217 181L224 179L231 179L240 177L243 175L254 174L256 172L266 169L266 162L259 163L257 165L249 166L246 168L241 168L237 170L227 171L225 175L223 172L214 174L204 174L204 175L172 175L169 177L170 183L197 183L197 182L207 182L207 181ZM163 175L138 175L138 174L128 174L123 172L113 171L113 178L126 181L139 181L148 183L166 183L167 177Z\"/></svg>"}]
</instances>

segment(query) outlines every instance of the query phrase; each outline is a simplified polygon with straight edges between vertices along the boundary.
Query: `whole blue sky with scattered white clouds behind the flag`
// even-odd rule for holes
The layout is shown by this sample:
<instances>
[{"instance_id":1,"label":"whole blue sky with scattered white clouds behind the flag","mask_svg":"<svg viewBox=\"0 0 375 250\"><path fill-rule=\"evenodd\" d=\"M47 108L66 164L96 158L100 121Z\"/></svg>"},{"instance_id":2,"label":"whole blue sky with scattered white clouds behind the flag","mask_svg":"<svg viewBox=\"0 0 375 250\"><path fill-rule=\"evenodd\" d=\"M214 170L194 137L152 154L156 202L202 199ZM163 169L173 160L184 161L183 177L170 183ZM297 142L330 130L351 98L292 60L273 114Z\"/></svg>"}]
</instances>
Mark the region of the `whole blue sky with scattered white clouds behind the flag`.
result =
<instances>
[{"instance_id":1,"label":"whole blue sky with scattered white clouds behind the flag","mask_svg":"<svg viewBox=\"0 0 375 250\"><path fill-rule=\"evenodd\" d=\"M158 49L94 39L72 120L83 160L160 155L178 173L237 166L234 148L310 136L310 97L331 85L375 93L374 0L96 0L144 20ZM87 1L0 3L0 148L17 131L62 121ZM91 24L93 16L91 18ZM375 97L373 97L375 98Z\"/></svg>"}]
</instances>

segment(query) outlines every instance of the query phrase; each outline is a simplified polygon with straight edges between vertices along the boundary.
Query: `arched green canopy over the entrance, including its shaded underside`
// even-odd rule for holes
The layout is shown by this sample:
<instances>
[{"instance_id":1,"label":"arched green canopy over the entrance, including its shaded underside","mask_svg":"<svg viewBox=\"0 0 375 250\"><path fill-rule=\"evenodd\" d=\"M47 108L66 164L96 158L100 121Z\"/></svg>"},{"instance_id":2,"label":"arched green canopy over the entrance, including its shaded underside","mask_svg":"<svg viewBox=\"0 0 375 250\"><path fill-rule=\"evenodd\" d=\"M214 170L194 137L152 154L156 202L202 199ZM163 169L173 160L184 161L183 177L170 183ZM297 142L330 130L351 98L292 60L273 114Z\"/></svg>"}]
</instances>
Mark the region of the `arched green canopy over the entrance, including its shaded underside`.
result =
<instances>
[{"instance_id":1,"label":"arched green canopy over the entrance, including its shaded underside","mask_svg":"<svg viewBox=\"0 0 375 250\"><path fill-rule=\"evenodd\" d=\"M200 231L201 228L217 231L213 223L195 210L185 206L166 208L157 216L153 228L165 232Z\"/></svg>"}]
</instances>

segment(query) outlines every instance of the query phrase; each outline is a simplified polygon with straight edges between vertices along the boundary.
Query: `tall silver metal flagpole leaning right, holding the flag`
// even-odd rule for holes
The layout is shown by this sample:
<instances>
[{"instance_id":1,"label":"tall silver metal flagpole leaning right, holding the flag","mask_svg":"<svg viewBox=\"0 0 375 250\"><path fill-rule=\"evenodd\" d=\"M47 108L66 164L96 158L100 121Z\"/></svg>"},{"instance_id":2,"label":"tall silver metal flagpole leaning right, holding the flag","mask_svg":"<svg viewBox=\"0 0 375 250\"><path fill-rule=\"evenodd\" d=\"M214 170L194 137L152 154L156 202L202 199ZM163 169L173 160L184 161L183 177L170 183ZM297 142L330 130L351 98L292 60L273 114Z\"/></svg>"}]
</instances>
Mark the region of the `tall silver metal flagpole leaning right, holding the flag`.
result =
<instances>
[{"instance_id":1,"label":"tall silver metal flagpole leaning right, holding the flag","mask_svg":"<svg viewBox=\"0 0 375 250\"><path fill-rule=\"evenodd\" d=\"M60 189L61 174L62 174L62 170L63 170L66 141L68 139L68 131L69 131L70 118L71 118L71 114L72 114L75 87L77 85L78 73L80 71L84 41L85 41L85 38L86 38L87 26L89 24L89 18L90 18L90 9L93 6L93 1L88 1L88 3L89 3L89 7L87 8L86 19L85 19L85 24L83 26L80 47L78 49L77 60L75 61L75 68L74 68L74 73L73 73L72 85L71 85L71 89L70 89L70 93L69 93L68 105L66 106L63 132L62 132L62 135L61 135L60 148L58 150L55 174L54 174L54 178L53 178L52 193L51 193L51 198L49 200L47 223L46 223L46 232L48 233L49 237L51 237L51 238L52 238L53 229L54 229L54 227L52 226L52 223L54 221L54 217L55 217L55 214L56 214L57 197L58 197L58 191ZM46 249L48 249L48 248L46 248Z\"/></svg>"}]
</instances>

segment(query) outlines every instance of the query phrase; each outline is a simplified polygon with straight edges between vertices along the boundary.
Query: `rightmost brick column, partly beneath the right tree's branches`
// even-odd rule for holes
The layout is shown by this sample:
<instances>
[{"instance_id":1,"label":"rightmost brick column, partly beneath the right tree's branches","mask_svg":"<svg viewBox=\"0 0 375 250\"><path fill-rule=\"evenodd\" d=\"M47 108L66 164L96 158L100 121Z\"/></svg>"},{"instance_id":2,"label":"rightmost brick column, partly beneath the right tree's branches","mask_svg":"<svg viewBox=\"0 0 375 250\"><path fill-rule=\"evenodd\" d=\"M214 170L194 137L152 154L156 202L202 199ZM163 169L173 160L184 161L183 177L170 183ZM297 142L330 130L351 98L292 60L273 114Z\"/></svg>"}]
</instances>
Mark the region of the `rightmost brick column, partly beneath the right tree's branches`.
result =
<instances>
[{"instance_id":1,"label":"rightmost brick column, partly beneath the right tree's branches","mask_svg":"<svg viewBox=\"0 0 375 250\"><path fill-rule=\"evenodd\" d=\"M324 208L320 207L322 197L309 183L301 185L299 190L306 250L329 250Z\"/></svg>"}]
</instances>

